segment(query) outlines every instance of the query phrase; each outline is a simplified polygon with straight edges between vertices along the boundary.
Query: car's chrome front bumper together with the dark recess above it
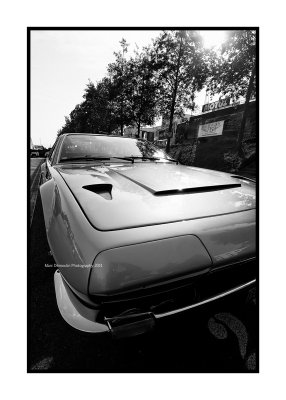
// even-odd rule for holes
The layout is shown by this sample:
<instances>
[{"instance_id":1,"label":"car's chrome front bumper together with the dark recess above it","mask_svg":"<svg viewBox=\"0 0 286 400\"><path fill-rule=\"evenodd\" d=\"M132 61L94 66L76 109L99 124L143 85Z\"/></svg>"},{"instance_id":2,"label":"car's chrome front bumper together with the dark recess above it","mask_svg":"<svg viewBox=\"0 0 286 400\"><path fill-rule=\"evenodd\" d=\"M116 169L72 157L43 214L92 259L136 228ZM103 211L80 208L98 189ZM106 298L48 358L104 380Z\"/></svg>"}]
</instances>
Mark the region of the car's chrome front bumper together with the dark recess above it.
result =
<instances>
[{"instance_id":1,"label":"car's chrome front bumper together with the dark recess above it","mask_svg":"<svg viewBox=\"0 0 286 400\"><path fill-rule=\"evenodd\" d=\"M115 337L135 336L153 329L156 320L203 306L254 285L255 260L248 260L242 265L237 263L221 268L195 282L185 286L181 284L179 288L178 285L175 288L166 285L165 294L161 291L158 295L158 289L156 294L149 292L143 297L140 293L127 294L111 300L104 299L100 307L95 308L80 300L57 270L54 275L57 304L64 320L77 330L109 332ZM247 273L236 278L236 271L239 275L242 268ZM230 276L232 280L229 281ZM164 301L164 296L168 300ZM174 301L170 301L172 299Z\"/></svg>"}]
</instances>

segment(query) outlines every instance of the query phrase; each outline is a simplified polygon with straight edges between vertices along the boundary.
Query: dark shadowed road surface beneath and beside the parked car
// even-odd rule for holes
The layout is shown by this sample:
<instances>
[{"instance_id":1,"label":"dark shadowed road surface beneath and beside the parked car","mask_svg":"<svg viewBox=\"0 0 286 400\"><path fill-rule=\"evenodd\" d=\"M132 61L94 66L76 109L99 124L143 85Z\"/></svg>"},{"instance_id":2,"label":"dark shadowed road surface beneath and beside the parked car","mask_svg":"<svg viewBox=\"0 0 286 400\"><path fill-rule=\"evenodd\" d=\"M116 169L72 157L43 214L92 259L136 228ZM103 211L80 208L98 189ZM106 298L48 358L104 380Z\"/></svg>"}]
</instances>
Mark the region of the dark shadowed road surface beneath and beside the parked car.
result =
<instances>
[{"instance_id":1,"label":"dark shadowed road surface beneath and beside the parked car","mask_svg":"<svg viewBox=\"0 0 286 400\"><path fill-rule=\"evenodd\" d=\"M38 178L32 160L31 182ZM37 172L35 172L37 171ZM35 193L35 187L33 188ZM28 370L86 372L257 372L255 289L161 322L129 339L82 334L59 314L40 197L30 231Z\"/></svg>"}]
</instances>

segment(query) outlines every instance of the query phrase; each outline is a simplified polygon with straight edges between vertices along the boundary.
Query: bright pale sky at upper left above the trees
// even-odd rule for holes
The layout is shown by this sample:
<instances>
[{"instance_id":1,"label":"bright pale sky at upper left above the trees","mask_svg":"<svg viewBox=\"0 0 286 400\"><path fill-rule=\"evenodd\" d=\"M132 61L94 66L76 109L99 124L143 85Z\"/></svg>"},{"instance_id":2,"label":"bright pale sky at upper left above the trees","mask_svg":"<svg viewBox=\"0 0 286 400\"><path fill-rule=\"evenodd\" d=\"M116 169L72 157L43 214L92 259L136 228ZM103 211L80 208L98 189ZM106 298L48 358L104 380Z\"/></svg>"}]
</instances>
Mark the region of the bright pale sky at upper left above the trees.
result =
<instances>
[{"instance_id":1,"label":"bright pale sky at upper left above the trees","mask_svg":"<svg viewBox=\"0 0 286 400\"><path fill-rule=\"evenodd\" d=\"M31 31L31 138L33 144L53 145L86 84L102 79L124 37L128 52L151 44L160 31ZM209 31L206 45L214 40ZM196 99L202 104L204 95Z\"/></svg>"}]
</instances>

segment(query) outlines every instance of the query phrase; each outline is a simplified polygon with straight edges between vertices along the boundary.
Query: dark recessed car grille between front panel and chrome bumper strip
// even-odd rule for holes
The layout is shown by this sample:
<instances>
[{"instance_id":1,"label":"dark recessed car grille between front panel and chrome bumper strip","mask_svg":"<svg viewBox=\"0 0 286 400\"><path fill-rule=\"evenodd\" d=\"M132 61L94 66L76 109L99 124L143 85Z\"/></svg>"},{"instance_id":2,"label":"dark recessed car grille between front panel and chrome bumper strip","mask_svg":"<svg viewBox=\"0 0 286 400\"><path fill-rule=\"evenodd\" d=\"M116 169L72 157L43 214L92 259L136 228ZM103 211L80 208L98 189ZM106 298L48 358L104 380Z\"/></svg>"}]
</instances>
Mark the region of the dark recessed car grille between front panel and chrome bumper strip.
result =
<instances>
[{"instance_id":1,"label":"dark recessed car grille between front panel and chrome bumper strip","mask_svg":"<svg viewBox=\"0 0 286 400\"><path fill-rule=\"evenodd\" d=\"M198 277L161 283L137 290L92 296L106 317L130 312L164 313L214 297L252 281L257 275L255 259L212 269Z\"/></svg>"}]
</instances>

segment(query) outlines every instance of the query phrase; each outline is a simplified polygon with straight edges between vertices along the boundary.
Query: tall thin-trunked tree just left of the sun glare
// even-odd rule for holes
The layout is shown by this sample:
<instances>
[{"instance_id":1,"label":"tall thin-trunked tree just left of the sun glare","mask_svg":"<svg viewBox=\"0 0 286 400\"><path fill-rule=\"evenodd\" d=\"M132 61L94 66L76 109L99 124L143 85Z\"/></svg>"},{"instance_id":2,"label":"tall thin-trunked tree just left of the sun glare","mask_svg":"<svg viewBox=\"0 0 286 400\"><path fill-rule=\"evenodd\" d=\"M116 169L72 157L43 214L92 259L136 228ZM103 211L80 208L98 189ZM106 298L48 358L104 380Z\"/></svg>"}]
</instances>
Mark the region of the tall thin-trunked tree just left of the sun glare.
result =
<instances>
[{"instance_id":1,"label":"tall thin-trunked tree just left of the sun glare","mask_svg":"<svg viewBox=\"0 0 286 400\"><path fill-rule=\"evenodd\" d=\"M208 76L208 53L196 31L163 31L155 40L159 80L161 82L161 111L169 116L170 136L174 115L194 106L195 92L201 90Z\"/></svg>"}]
</instances>

